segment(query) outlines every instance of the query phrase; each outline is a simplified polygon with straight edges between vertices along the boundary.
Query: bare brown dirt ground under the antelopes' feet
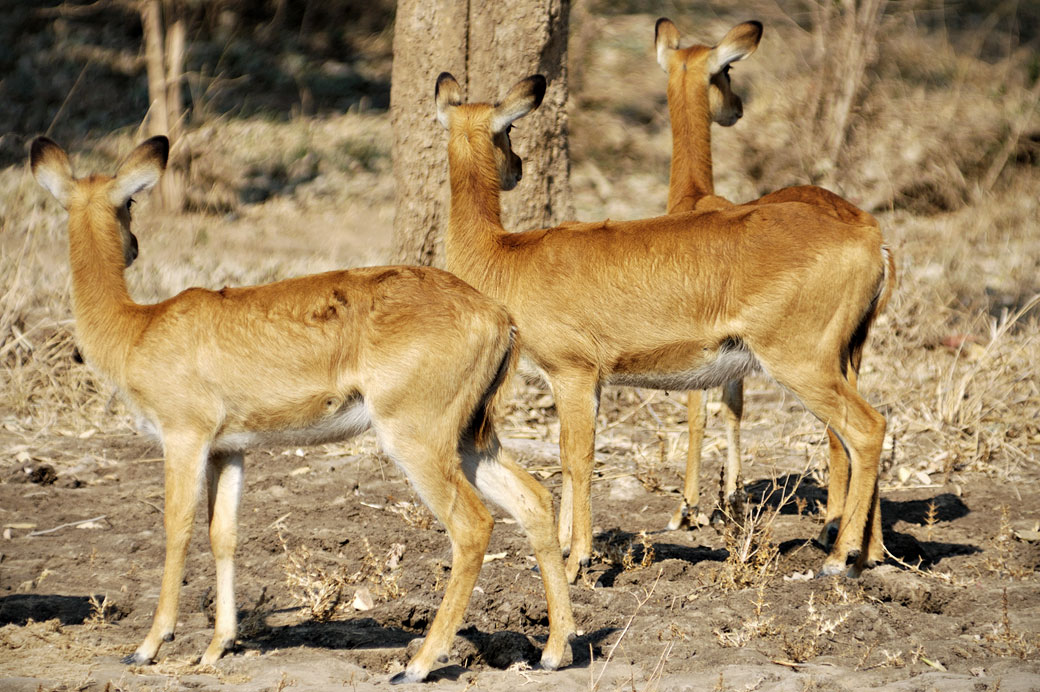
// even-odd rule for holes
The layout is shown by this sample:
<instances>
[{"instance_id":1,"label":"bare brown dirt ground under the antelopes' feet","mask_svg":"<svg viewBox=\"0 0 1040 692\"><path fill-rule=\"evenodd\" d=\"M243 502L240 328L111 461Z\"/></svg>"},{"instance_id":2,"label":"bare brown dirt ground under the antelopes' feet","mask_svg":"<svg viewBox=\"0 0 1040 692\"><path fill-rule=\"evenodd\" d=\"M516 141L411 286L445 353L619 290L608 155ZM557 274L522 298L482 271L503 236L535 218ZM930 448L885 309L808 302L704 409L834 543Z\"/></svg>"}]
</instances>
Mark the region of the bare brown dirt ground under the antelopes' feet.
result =
<instances>
[{"instance_id":1,"label":"bare brown dirt ground under the antelopes' feet","mask_svg":"<svg viewBox=\"0 0 1040 692\"><path fill-rule=\"evenodd\" d=\"M768 508L757 521L757 510L751 513L750 531L662 531L677 503L677 464L633 459L633 450L665 454L667 442L641 430L632 411L657 411L664 440L681 429L679 411L662 394L639 393L647 399L617 392L604 407L627 407L629 420L600 436L598 558L571 589L582 632L573 663L555 673L528 669L547 634L544 596L522 535L500 520L436 689L1040 687L1036 478L889 483L885 542L907 564L892 560L858 580L810 579L824 557L809 539L826 494L815 473L802 477L805 458L784 451L772 468L748 469L750 505L764 498ZM547 416L531 430L554 439L537 390L525 399ZM749 410L768 405L798 416L772 386L752 385ZM511 420L518 415L528 414L518 408ZM750 422L749 440L757 428ZM450 554L443 529L368 437L248 458L237 651L212 667L193 663L211 635L214 579L200 512L177 639L153 666L120 664L147 632L158 594L160 450L130 431L89 433L29 440L21 451L14 435L0 438L25 460L0 484L9 536L0 542L0 688L375 689L401 668L442 595ZM557 485L554 443L513 438L509 445ZM813 458L822 452L811 437L804 446ZM720 461L718 451L709 454L709 495ZM774 487L799 479L795 492ZM781 495L787 502L776 508ZM66 526L83 519L93 521ZM744 539L766 557L742 562ZM319 603L322 586L342 588L338 606Z\"/></svg>"}]
</instances>

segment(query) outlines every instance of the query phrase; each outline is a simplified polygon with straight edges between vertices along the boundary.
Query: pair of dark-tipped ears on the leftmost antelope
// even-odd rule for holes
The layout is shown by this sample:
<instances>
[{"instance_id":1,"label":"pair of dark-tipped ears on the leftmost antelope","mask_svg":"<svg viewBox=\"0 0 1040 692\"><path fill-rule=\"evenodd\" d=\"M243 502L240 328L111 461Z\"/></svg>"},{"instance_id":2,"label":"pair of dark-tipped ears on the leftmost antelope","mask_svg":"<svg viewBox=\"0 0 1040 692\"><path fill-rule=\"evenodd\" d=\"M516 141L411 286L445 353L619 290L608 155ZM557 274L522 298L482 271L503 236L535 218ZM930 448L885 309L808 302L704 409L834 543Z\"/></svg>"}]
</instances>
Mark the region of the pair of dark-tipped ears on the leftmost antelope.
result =
<instances>
[{"instance_id":1,"label":"pair of dark-tipped ears on the leftmost antelope","mask_svg":"<svg viewBox=\"0 0 1040 692\"><path fill-rule=\"evenodd\" d=\"M166 170L168 158L170 139L162 135L138 145L112 179L108 189L109 202L116 207L125 206L131 197L154 186ZM62 207L69 208L76 178L64 150L48 137L36 137L29 150L29 164L36 182L46 187Z\"/></svg>"}]
</instances>

